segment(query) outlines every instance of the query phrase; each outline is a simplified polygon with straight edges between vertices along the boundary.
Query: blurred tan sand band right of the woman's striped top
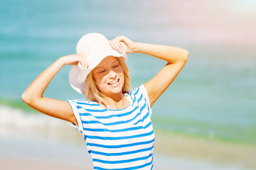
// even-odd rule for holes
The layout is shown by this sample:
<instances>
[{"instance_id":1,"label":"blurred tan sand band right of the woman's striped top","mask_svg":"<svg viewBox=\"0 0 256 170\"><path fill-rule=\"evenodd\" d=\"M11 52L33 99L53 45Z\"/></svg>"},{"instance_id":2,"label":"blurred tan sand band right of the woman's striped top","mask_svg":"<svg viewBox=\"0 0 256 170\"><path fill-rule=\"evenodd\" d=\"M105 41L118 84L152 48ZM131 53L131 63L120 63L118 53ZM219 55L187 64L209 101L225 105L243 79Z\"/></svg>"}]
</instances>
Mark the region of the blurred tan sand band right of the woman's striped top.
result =
<instances>
[{"instance_id":1,"label":"blurred tan sand band right of the woman's striped top","mask_svg":"<svg viewBox=\"0 0 256 170\"><path fill-rule=\"evenodd\" d=\"M154 148L155 153L169 157L184 157L213 164L233 164L241 169L256 169L255 146L156 132Z\"/></svg>"}]
</instances>

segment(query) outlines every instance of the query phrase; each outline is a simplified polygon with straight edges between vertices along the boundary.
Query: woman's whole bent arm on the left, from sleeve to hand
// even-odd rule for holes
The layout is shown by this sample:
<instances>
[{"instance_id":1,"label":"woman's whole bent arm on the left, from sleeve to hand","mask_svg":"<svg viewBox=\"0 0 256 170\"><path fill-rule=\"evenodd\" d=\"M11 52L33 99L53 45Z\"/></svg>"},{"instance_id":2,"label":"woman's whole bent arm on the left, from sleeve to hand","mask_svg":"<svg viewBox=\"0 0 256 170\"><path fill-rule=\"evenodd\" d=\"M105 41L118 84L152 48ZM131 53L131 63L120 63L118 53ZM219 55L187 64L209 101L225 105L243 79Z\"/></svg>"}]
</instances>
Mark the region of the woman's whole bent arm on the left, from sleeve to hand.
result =
<instances>
[{"instance_id":1,"label":"woman's whole bent arm on the left, from sleeve to hand","mask_svg":"<svg viewBox=\"0 0 256 170\"><path fill-rule=\"evenodd\" d=\"M80 62L82 67L86 67L85 61L85 55L82 53L60 57L28 86L21 96L22 101L41 113L78 125L72 108L67 101L43 97L43 92L63 66L66 64L75 65Z\"/></svg>"}]
</instances>

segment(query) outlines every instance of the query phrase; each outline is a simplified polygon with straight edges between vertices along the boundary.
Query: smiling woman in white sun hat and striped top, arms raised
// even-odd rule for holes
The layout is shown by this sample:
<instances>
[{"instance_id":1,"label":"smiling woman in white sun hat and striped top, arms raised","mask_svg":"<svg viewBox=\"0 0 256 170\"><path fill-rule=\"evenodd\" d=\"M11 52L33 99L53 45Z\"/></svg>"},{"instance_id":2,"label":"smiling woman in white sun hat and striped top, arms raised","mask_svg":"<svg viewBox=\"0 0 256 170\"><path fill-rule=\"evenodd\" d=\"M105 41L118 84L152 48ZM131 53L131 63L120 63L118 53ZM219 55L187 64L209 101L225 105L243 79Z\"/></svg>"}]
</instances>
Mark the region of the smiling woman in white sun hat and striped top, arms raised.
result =
<instances>
[{"instance_id":1,"label":"smiling woman in white sun hat and striped top, arms raised","mask_svg":"<svg viewBox=\"0 0 256 170\"><path fill-rule=\"evenodd\" d=\"M22 100L41 113L67 120L82 132L94 169L153 169L154 131L151 107L188 60L179 47L133 42L125 36L107 40L99 33L84 35L77 54L60 57L42 72ZM131 91L127 55L144 53L167 64L154 78ZM85 99L59 101L43 92L68 65L70 84ZM138 73L139 74L139 73Z\"/></svg>"}]
</instances>

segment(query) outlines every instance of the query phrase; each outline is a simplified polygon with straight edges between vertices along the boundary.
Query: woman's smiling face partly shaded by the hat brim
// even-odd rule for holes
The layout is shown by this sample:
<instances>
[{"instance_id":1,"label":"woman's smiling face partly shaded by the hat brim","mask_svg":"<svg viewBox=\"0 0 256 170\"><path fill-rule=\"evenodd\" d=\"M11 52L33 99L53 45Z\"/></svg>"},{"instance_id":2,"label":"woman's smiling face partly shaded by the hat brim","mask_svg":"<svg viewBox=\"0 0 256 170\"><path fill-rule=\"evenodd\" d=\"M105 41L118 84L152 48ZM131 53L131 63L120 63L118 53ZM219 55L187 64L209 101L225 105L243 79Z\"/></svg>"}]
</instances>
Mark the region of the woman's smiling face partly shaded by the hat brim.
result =
<instances>
[{"instance_id":1,"label":"woman's smiling face partly shaded by the hat brim","mask_svg":"<svg viewBox=\"0 0 256 170\"><path fill-rule=\"evenodd\" d=\"M92 77L100 93L105 96L122 93L124 86L124 71L116 57L105 57L92 70Z\"/></svg>"}]
</instances>

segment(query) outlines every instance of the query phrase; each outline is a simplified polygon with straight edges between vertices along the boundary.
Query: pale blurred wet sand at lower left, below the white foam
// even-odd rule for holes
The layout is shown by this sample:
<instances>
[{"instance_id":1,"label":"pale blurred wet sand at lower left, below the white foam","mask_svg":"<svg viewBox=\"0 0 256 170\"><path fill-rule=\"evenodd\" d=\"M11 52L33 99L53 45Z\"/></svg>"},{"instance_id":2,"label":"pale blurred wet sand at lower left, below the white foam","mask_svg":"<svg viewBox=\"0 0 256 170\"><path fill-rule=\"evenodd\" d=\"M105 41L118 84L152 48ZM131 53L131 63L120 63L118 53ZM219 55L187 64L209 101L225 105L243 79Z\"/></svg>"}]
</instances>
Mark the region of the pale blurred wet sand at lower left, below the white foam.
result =
<instances>
[{"instance_id":1,"label":"pale blurred wet sand at lower left, below the white foam","mask_svg":"<svg viewBox=\"0 0 256 170\"><path fill-rule=\"evenodd\" d=\"M92 169L84 147L32 137L0 137L0 169Z\"/></svg>"}]
</instances>

